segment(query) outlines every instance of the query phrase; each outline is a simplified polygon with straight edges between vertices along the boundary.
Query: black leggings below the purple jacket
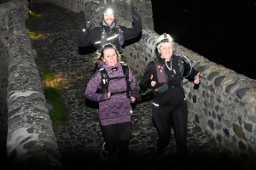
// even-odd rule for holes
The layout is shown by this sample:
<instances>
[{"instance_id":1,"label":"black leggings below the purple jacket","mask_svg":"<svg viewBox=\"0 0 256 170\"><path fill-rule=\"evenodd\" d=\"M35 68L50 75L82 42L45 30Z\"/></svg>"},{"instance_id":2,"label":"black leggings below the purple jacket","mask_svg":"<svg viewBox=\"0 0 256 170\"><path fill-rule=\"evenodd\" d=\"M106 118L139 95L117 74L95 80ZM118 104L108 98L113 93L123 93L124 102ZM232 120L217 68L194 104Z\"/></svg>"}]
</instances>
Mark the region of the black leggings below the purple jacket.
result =
<instances>
[{"instance_id":1,"label":"black leggings below the purple jacket","mask_svg":"<svg viewBox=\"0 0 256 170\"><path fill-rule=\"evenodd\" d=\"M113 153L119 146L119 159L129 156L129 141L131 137L131 122L102 126L106 150Z\"/></svg>"}]
</instances>

